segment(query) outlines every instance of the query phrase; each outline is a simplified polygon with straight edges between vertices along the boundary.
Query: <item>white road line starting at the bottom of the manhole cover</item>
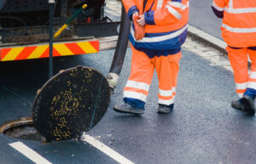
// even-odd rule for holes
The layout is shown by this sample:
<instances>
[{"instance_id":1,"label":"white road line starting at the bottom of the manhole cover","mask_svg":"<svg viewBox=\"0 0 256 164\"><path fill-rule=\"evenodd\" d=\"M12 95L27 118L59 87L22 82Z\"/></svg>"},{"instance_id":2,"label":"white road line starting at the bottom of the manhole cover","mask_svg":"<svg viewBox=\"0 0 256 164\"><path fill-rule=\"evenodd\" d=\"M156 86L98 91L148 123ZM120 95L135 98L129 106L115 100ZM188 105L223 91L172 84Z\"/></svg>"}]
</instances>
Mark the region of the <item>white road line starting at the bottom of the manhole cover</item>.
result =
<instances>
[{"instance_id":1,"label":"white road line starting at the bottom of the manhole cover","mask_svg":"<svg viewBox=\"0 0 256 164\"><path fill-rule=\"evenodd\" d=\"M101 143L90 135L84 133L82 136L82 140L93 145L94 147L96 147L96 149L101 150L103 153L113 158L114 161L118 161L119 163L123 164L134 164L132 161L128 160L124 156L121 156L118 152L112 150L106 144Z\"/></svg>"}]
</instances>

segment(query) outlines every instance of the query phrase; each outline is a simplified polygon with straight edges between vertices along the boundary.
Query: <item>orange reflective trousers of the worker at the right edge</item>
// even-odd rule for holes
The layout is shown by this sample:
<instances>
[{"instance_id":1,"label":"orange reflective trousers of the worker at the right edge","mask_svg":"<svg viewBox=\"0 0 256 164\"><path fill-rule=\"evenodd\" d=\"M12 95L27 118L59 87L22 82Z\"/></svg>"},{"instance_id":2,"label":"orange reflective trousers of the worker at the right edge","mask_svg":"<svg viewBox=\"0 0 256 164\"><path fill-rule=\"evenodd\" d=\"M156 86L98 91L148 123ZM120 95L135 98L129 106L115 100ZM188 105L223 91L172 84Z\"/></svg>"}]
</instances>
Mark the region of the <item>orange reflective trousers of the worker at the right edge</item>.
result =
<instances>
[{"instance_id":1,"label":"orange reflective trousers of the worker at the right edge","mask_svg":"<svg viewBox=\"0 0 256 164\"><path fill-rule=\"evenodd\" d=\"M249 48L226 48L230 65L234 71L234 79L236 82L236 93L241 98L247 88L256 90L256 51ZM252 65L248 74L247 55L249 55Z\"/></svg>"}]
</instances>

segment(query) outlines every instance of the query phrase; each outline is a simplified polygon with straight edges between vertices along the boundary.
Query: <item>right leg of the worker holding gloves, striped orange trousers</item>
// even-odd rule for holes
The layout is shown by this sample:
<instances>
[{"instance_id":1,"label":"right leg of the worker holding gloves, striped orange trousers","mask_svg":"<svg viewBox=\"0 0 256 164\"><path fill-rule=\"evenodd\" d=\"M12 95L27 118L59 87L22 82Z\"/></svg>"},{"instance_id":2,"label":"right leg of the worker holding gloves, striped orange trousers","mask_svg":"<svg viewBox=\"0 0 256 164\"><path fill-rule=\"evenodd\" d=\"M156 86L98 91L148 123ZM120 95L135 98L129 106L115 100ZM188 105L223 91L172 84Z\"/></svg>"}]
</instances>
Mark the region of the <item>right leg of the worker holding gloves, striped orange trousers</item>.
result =
<instances>
[{"instance_id":1,"label":"right leg of the worker holding gloves, striped orange trousers","mask_svg":"<svg viewBox=\"0 0 256 164\"><path fill-rule=\"evenodd\" d=\"M177 74L181 52L155 58L155 68L159 78L158 104L160 113L172 110L177 86ZM166 110L165 110L166 109Z\"/></svg>"}]
</instances>

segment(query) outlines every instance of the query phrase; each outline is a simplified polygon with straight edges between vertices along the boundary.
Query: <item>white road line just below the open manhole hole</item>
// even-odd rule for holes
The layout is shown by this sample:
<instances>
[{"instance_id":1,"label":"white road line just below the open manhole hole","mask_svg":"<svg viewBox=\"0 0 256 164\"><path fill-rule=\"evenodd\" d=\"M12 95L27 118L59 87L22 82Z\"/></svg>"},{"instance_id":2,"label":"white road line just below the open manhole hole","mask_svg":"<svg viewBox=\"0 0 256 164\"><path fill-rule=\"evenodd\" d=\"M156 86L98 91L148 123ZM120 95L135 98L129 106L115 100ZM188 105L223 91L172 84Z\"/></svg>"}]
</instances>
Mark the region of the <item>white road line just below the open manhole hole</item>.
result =
<instances>
[{"instance_id":1,"label":"white road line just below the open manhole hole","mask_svg":"<svg viewBox=\"0 0 256 164\"><path fill-rule=\"evenodd\" d=\"M23 154L24 156L26 156L31 161L37 164L52 164L51 162L44 159L43 156L40 156L36 151L27 147L26 144L23 144L21 142L15 142L9 145L13 147L15 150L20 151L21 154Z\"/></svg>"}]
</instances>

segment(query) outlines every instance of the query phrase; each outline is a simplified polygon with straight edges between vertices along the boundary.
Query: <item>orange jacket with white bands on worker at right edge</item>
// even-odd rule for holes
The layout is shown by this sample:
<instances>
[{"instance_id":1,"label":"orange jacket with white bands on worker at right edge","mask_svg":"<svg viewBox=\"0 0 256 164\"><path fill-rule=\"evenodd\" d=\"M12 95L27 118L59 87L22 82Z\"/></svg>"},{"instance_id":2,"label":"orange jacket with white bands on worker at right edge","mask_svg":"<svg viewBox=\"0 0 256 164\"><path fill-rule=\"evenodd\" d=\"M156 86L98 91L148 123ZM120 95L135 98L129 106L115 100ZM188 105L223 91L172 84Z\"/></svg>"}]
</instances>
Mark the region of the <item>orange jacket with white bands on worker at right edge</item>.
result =
<instances>
[{"instance_id":1,"label":"orange jacket with white bands on worker at right edge","mask_svg":"<svg viewBox=\"0 0 256 164\"><path fill-rule=\"evenodd\" d=\"M212 8L224 12L222 37L230 47L256 46L256 0L214 0Z\"/></svg>"}]
</instances>

